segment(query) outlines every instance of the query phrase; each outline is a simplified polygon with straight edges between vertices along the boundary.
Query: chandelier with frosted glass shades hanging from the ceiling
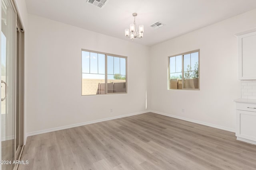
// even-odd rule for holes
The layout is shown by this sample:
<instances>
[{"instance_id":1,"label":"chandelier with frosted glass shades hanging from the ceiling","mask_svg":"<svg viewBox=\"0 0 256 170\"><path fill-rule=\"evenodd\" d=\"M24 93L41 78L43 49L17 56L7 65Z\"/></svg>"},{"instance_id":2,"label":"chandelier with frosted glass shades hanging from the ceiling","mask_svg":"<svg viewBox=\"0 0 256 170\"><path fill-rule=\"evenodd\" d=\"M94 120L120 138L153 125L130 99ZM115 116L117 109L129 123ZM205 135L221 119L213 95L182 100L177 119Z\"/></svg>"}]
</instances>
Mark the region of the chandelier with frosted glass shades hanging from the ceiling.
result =
<instances>
[{"instance_id":1,"label":"chandelier with frosted glass shades hanging from the ceiling","mask_svg":"<svg viewBox=\"0 0 256 170\"><path fill-rule=\"evenodd\" d=\"M143 37L143 32L144 32L144 26L139 25L139 31L137 31L136 28L136 22L135 22L135 17L137 16L137 13L133 13L132 16L134 16L134 22L130 24L130 29L126 28L124 30L125 36L127 38L130 38L134 40L134 38L142 38Z\"/></svg>"}]
</instances>

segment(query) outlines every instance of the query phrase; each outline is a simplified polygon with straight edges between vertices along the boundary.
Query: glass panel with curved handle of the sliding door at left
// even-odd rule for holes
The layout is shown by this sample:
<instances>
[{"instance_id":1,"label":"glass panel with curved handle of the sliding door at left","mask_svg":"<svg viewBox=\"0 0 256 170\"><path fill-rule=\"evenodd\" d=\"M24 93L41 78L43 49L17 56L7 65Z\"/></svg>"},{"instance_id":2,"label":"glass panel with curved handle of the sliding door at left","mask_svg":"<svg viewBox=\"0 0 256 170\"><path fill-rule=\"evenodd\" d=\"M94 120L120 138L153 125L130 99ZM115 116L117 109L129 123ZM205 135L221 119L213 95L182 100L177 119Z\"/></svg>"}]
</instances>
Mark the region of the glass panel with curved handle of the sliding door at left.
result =
<instances>
[{"instance_id":1,"label":"glass panel with curved handle of the sliding door at left","mask_svg":"<svg viewBox=\"0 0 256 170\"><path fill-rule=\"evenodd\" d=\"M9 0L2 0L1 28L1 116L2 116L2 160L15 158L15 114L16 114L16 13ZM2 164L2 170L12 170L14 165Z\"/></svg>"}]
</instances>

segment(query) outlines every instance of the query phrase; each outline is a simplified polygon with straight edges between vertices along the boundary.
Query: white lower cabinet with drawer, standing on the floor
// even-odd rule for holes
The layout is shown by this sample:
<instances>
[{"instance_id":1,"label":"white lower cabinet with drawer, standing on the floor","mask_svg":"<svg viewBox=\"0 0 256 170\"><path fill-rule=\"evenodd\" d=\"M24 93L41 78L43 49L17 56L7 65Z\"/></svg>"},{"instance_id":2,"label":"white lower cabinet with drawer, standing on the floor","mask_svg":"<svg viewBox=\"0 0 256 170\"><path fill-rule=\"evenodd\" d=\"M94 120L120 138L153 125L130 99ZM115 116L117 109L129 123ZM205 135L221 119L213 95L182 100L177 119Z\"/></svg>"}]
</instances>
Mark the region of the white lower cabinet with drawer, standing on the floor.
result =
<instances>
[{"instance_id":1,"label":"white lower cabinet with drawer, standing on the floor","mask_svg":"<svg viewBox=\"0 0 256 170\"><path fill-rule=\"evenodd\" d=\"M255 103L236 102L236 137L239 141L256 145Z\"/></svg>"}]
</instances>

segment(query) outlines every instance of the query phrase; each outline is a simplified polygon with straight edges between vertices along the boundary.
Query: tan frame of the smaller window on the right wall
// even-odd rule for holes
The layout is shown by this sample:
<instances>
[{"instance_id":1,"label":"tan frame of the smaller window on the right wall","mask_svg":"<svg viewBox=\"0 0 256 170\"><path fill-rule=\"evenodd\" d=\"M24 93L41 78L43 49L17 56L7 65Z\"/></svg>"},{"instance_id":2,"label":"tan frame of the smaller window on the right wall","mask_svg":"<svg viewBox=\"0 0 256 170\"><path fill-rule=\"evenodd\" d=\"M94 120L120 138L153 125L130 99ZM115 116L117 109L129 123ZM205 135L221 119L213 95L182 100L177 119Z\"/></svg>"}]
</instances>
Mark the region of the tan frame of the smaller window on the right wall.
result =
<instances>
[{"instance_id":1,"label":"tan frame of the smaller window on the right wall","mask_svg":"<svg viewBox=\"0 0 256 170\"><path fill-rule=\"evenodd\" d=\"M196 52L198 52L198 88L184 88L184 55L196 53ZM182 89L171 89L170 88L170 58L176 57L179 55L182 56ZM200 90L200 49L187 51L185 53L180 53L180 54L176 54L176 55L171 55L171 56L167 57L167 60L168 60L168 81L167 81L168 90Z\"/></svg>"}]
</instances>

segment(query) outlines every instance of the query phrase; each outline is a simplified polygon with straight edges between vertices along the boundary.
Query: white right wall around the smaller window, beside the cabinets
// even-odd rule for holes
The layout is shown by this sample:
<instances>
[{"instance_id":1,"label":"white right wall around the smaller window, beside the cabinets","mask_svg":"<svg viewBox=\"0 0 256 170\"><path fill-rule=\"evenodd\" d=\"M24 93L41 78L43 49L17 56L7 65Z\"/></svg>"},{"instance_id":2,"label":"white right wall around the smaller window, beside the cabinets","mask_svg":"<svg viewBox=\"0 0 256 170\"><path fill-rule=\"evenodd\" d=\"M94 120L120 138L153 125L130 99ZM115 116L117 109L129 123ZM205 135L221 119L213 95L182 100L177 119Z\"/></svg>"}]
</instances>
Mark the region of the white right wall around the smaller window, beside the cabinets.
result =
<instances>
[{"instance_id":1,"label":"white right wall around the smaller window, beside the cabinets","mask_svg":"<svg viewBox=\"0 0 256 170\"><path fill-rule=\"evenodd\" d=\"M255 18L253 10L152 46L151 109L234 131L233 100L241 97L234 34L255 28ZM167 90L167 57L196 49L200 49L200 90Z\"/></svg>"}]
</instances>

